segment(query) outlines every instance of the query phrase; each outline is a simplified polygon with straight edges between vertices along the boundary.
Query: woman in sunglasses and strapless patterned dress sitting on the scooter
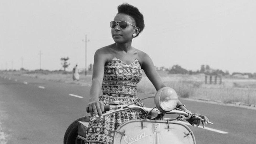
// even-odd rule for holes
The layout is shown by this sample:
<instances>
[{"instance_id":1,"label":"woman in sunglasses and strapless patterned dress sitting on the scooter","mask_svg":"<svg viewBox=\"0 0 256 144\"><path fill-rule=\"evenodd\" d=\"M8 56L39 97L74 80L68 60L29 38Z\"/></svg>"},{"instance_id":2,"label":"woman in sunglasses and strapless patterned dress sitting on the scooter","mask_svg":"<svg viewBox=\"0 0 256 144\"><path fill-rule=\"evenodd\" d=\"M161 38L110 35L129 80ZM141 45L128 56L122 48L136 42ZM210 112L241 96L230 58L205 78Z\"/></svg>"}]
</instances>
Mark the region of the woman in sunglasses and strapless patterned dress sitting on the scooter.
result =
<instances>
[{"instance_id":1,"label":"woman in sunglasses and strapless patterned dress sitting on the scooter","mask_svg":"<svg viewBox=\"0 0 256 144\"><path fill-rule=\"evenodd\" d=\"M115 43L95 52L92 87L90 89L89 110L92 116L100 117L89 123L86 143L112 143L115 129L125 121L143 118L134 111L122 111L110 116L102 116L104 105L113 101L130 104L140 100L136 97L137 84L142 78L143 69L156 90L166 87L157 73L151 58L131 46L133 38L144 29L143 15L129 4L118 6L118 14L110 22L111 34ZM102 95L100 91L102 89ZM136 105L144 106L137 102ZM177 107L189 113L180 101ZM195 114L207 122L208 119ZM188 120L190 124L200 124L199 120ZM206 122L202 122L203 126Z\"/></svg>"}]
</instances>

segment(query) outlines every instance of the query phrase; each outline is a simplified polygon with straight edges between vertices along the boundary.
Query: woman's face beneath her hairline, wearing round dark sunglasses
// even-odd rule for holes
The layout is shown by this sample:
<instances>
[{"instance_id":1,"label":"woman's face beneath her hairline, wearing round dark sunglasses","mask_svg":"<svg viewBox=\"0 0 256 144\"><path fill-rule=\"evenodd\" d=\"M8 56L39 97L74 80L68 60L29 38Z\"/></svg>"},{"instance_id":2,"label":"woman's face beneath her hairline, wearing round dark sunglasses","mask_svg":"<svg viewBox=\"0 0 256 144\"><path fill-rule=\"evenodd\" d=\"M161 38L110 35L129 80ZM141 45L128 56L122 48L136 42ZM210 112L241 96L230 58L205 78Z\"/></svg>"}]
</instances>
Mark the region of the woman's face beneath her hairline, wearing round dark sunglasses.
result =
<instances>
[{"instance_id":1,"label":"woman's face beneath her hairline, wearing round dark sunglasses","mask_svg":"<svg viewBox=\"0 0 256 144\"><path fill-rule=\"evenodd\" d=\"M122 20L135 25L135 20L127 14L119 13L114 18L114 21L116 22ZM116 25L115 28L111 29L112 38L116 43L119 44L129 42L133 38L132 34L136 32L135 29L136 28L130 24L128 24L128 26L125 29L121 29L119 25Z\"/></svg>"}]
</instances>

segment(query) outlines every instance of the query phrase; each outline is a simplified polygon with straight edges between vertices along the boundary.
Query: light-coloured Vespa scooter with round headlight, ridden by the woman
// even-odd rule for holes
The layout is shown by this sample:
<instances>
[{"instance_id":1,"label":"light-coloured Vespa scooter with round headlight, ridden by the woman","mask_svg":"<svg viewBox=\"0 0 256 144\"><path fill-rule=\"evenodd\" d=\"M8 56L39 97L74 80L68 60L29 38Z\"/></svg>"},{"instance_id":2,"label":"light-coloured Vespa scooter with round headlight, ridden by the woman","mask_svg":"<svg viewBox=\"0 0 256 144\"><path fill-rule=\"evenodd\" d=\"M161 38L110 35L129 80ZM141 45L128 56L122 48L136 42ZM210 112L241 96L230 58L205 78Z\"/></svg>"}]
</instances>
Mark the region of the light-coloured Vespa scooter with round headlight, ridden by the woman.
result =
<instances>
[{"instance_id":1,"label":"light-coloured Vespa scooter with round headlight, ridden by the woman","mask_svg":"<svg viewBox=\"0 0 256 144\"><path fill-rule=\"evenodd\" d=\"M151 98L151 97L147 97ZM146 98L145 98L146 99ZM143 99L142 99L143 100ZM121 104L112 102L105 105L103 116L111 115L124 110L137 111L144 115L144 119L129 120L115 130L114 144L195 144L195 136L191 129L179 121L189 118L190 113L175 108L178 95L172 88L164 87L157 91L154 96L155 108L141 107L134 104ZM89 112L89 108L87 108ZM164 115L175 114L176 118L164 118ZM192 118L204 121L196 115ZM82 144L86 141L89 121L96 117L84 116L74 121L66 130L64 144ZM213 124L212 122L209 122Z\"/></svg>"}]
</instances>

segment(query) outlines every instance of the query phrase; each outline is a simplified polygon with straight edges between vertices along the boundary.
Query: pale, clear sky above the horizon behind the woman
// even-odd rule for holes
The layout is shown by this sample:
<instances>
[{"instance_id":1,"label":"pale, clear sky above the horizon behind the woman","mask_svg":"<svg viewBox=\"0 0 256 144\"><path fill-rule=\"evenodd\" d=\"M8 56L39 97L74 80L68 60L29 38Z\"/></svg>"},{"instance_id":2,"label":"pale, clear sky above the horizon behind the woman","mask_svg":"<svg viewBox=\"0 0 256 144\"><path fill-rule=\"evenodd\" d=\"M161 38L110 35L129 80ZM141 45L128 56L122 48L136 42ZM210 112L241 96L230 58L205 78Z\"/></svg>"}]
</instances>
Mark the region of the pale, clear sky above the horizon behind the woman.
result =
<instances>
[{"instance_id":1,"label":"pale, clear sky above the horizon behind the woman","mask_svg":"<svg viewBox=\"0 0 256 144\"><path fill-rule=\"evenodd\" d=\"M201 65L231 72L256 72L256 1L0 1L0 70L60 70L93 63L97 49L114 43L109 22L119 4L144 15L145 29L132 46L146 52L156 67Z\"/></svg>"}]
</instances>

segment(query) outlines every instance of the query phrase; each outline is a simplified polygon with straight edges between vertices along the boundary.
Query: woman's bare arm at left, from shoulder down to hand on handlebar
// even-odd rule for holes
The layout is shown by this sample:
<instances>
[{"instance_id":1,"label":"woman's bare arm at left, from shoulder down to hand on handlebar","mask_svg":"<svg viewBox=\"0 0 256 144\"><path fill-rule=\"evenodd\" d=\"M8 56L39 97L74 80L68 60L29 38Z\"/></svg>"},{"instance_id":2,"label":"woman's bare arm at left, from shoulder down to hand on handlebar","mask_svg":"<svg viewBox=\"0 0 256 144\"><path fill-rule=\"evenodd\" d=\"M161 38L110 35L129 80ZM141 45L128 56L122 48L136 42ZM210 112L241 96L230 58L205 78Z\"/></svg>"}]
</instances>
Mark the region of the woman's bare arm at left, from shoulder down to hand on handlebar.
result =
<instances>
[{"instance_id":1,"label":"woman's bare arm at left, from shoulder down to hand on handlebar","mask_svg":"<svg viewBox=\"0 0 256 144\"><path fill-rule=\"evenodd\" d=\"M88 103L91 116L93 114L95 116L102 116L102 112L104 111L104 104L102 101L99 101L99 95L101 93L105 62L106 58L103 50L97 50L94 55L92 86L90 88L90 99Z\"/></svg>"}]
</instances>

